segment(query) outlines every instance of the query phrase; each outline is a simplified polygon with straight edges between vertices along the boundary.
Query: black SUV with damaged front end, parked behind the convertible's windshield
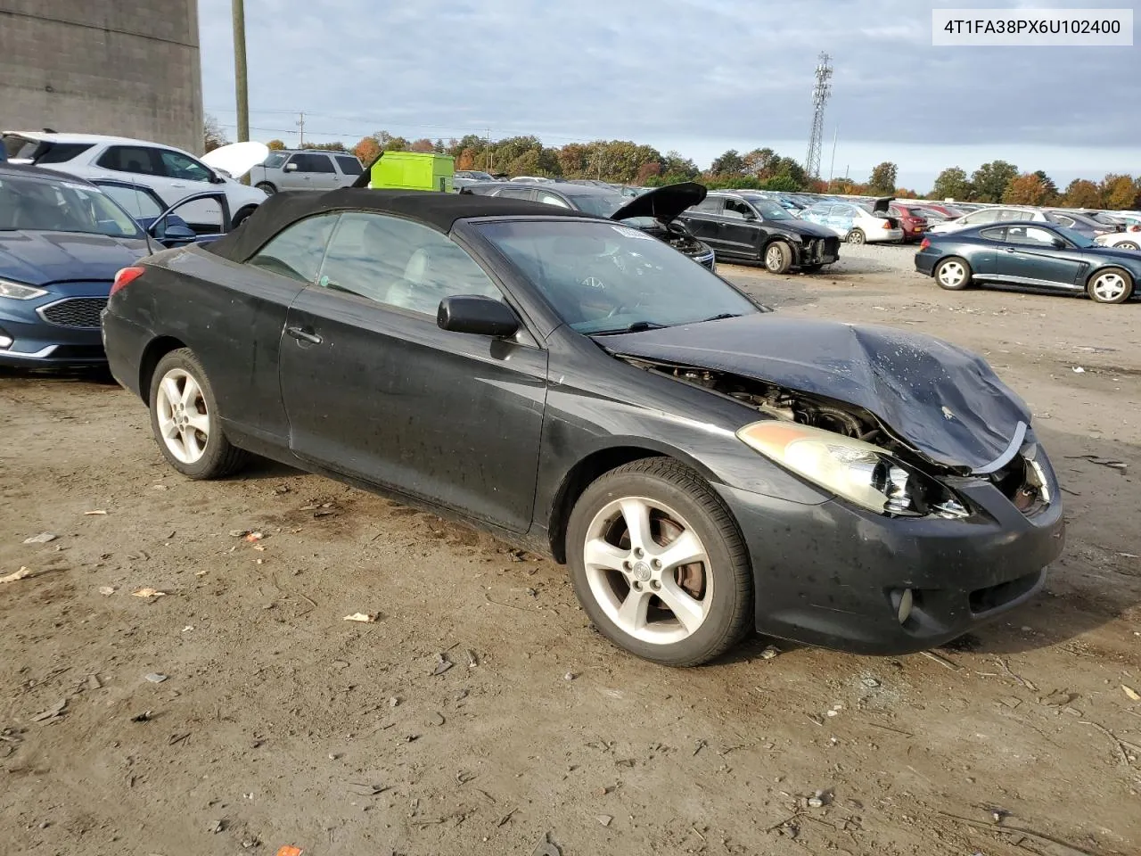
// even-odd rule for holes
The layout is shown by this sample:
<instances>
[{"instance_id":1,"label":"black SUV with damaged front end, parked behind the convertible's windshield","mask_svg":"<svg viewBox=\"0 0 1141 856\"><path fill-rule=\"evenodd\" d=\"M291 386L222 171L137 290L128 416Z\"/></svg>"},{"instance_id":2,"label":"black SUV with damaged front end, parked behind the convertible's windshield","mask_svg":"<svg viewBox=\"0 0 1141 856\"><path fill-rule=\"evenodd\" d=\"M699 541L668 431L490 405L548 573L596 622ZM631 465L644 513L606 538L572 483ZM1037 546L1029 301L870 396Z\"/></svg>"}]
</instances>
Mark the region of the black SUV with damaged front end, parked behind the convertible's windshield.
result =
<instances>
[{"instance_id":1,"label":"black SUV with damaged front end, parked behind the convertible's windshield","mask_svg":"<svg viewBox=\"0 0 1141 856\"><path fill-rule=\"evenodd\" d=\"M840 240L801 220L756 191L714 191L680 216L680 221L718 258L763 264L771 273L815 273L840 258Z\"/></svg>"}]
</instances>

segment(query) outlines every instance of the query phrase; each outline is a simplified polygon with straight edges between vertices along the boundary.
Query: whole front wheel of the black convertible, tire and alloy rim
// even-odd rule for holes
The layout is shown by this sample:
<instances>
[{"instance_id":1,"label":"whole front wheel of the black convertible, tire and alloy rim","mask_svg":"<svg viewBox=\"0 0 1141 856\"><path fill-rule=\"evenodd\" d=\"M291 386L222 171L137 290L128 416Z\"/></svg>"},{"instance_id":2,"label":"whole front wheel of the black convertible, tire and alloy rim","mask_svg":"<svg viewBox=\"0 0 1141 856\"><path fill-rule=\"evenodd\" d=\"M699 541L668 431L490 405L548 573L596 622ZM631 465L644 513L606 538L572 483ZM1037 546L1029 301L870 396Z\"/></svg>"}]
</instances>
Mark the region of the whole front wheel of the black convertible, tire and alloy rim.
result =
<instances>
[{"instance_id":1,"label":"whole front wheel of the black convertible, tire and alloy rim","mask_svg":"<svg viewBox=\"0 0 1141 856\"><path fill-rule=\"evenodd\" d=\"M575 595L615 645L666 665L697 665L745 633L753 576L728 508L666 458L591 484L567 527Z\"/></svg>"}]
</instances>

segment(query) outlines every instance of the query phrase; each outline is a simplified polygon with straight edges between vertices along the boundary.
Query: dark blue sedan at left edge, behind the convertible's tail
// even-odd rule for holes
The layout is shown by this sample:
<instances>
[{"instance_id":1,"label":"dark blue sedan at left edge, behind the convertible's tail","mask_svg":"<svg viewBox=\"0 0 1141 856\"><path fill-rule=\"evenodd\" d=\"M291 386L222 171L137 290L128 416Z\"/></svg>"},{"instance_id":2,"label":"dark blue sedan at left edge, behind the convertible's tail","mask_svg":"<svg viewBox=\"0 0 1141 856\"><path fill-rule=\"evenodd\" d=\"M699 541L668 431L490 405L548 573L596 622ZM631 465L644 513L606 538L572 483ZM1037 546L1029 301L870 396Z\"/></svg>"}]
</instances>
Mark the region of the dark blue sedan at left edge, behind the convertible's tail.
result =
<instances>
[{"instance_id":1,"label":"dark blue sedan at left edge, behind the convertible's tail","mask_svg":"<svg viewBox=\"0 0 1141 856\"><path fill-rule=\"evenodd\" d=\"M95 185L0 164L0 365L104 362L99 314L115 273L156 249Z\"/></svg>"}]
</instances>

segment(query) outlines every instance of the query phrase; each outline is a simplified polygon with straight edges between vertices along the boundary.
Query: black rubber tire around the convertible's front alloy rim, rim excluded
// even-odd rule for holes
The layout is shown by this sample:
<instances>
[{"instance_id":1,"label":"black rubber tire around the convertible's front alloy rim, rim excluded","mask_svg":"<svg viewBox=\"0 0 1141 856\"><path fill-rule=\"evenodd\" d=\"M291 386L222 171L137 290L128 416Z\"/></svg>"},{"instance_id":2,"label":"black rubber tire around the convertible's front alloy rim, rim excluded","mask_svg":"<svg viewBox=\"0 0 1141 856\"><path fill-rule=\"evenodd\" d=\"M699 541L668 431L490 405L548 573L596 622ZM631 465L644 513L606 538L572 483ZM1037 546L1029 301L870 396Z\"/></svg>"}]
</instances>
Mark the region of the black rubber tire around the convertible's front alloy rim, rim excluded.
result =
<instances>
[{"instance_id":1,"label":"black rubber tire around the convertible's front alloy rim, rim excluded","mask_svg":"<svg viewBox=\"0 0 1141 856\"><path fill-rule=\"evenodd\" d=\"M591 526L608 506L628 498L644 498L674 510L701 540L704 554L709 557L709 563L702 563L701 578L702 586L705 587L704 597L709 598L707 611L701 624L678 641L647 641L628 633L607 615L591 587L584 556ZM665 525L667 524L658 524L659 532ZM602 636L637 656L664 665L698 665L733 647L751 625L753 572L736 520L725 502L701 476L675 460L670 458L638 460L610 470L594 481L582 493L570 512L566 548L570 581L586 615ZM634 555L630 552L631 560L636 560ZM631 570L631 576L638 565L646 567L645 560L638 562ZM673 572L669 573L675 583L680 582L672 575ZM607 579L615 579L618 584L623 584L622 572L615 571ZM624 584L629 596L631 587L640 583ZM654 584L654 582L647 583L647 586ZM657 584L656 588L661 590L662 586ZM623 597L621 593L615 593L620 599ZM653 603L655 597L648 595L647 603ZM664 600L658 600L658 604L664 605Z\"/></svg>"}]
</instances>

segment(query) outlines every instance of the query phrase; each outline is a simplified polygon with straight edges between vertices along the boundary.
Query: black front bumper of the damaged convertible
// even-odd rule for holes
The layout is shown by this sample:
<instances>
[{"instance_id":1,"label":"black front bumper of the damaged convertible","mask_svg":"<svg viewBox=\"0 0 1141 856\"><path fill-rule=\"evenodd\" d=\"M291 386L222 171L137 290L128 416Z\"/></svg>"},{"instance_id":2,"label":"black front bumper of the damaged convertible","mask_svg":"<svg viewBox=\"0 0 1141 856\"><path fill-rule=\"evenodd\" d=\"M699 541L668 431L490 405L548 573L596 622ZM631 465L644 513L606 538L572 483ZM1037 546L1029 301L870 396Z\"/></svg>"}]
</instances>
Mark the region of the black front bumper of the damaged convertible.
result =
<instances>
[{"instance_id":1,"label":"black front bumper of the damaged convertible","mask_svg":"<svg viewBox=\"0 0 1141 856\"><path fill-rule=\"evenodd\" d=\"M956 485L981 509L960 520L717 490L752 558L756 631L860 654L937 647L1026 601L1065 543L1060 499L1027 517L987 482Z\"/></svg>"}]
</instances>

